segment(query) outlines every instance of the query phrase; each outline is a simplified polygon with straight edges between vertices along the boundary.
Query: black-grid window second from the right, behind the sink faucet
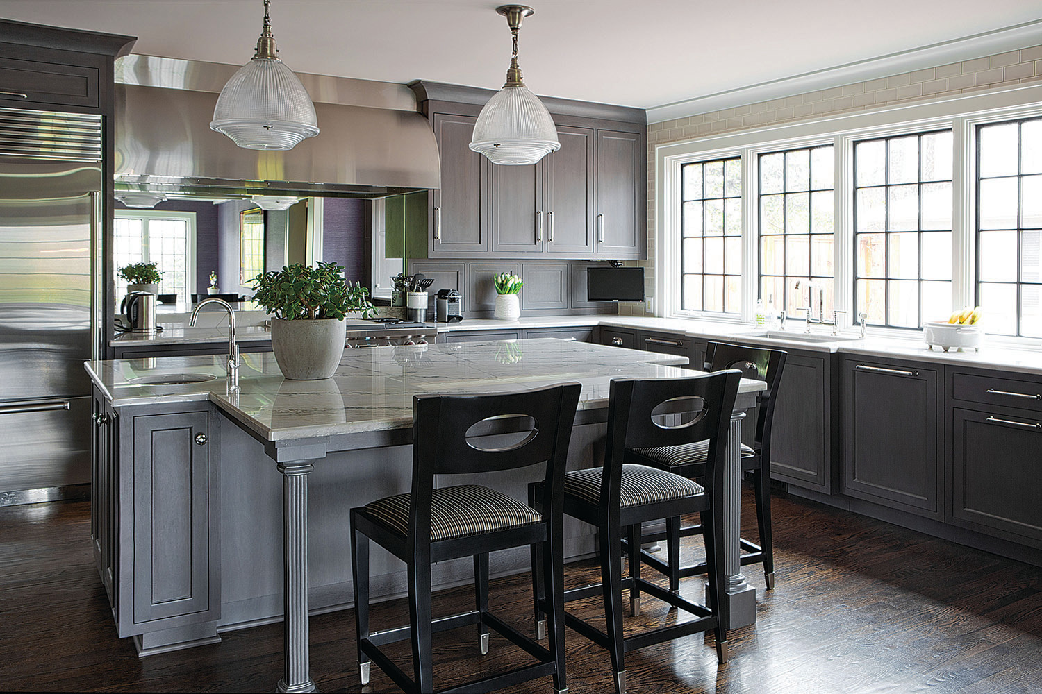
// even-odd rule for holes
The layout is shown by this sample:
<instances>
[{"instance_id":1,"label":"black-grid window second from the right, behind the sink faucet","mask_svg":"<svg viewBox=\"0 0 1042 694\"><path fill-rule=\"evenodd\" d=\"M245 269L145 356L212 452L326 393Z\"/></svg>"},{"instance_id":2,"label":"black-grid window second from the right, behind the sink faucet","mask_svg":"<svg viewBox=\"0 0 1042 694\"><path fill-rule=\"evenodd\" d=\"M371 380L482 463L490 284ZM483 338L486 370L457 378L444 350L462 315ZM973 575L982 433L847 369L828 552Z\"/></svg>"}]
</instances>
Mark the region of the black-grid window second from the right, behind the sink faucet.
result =
<instances>
[{"instance_id":1,"label":"black-grid window second from the right, behind the sink faucet","mask_svg":"<svg viewBox=\"0 0 1042 694\"><path fill-rule=\"evenodd\" d=\"M951 312L951 131L853 151L854 311L921 328Z\"/></svg>"}]
</instances>

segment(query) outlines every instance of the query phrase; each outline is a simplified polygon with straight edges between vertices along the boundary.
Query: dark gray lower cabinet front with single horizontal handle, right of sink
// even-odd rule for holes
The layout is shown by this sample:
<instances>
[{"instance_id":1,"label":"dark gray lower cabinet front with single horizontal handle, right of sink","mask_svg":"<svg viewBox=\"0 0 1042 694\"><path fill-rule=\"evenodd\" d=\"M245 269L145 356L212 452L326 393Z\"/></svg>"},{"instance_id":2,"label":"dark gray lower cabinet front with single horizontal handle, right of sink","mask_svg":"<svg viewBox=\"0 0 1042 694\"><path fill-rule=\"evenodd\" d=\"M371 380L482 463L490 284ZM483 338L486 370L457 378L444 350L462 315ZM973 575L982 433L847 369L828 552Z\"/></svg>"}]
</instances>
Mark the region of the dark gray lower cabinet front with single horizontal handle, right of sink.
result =
<instances>
[{"instance_id":1,"label":"dark gray lower cabinet front with single horizontal handle, right of sink","mask_svg":"<svg viewBox=\"0 0 1042 694\"><path fill-rule=\"evenodd\" d=\"M844 359L844 493L943 520L940 368Z\"/></svg>"}]
</instances>

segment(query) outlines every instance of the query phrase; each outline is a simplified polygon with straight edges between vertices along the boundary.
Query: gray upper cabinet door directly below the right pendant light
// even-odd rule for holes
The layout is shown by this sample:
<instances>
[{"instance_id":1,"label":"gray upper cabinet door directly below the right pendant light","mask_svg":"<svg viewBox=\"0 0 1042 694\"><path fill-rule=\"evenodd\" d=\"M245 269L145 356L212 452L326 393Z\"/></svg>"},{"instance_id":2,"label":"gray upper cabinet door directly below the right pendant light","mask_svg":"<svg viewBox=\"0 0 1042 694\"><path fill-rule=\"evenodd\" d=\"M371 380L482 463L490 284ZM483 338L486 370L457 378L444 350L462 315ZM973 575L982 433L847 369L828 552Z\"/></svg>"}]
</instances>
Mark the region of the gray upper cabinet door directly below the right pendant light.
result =
<instances>
[{"instance_id":1,"label":"gray upper cabinet door directly below the right pendant light","mask_svg":"<svg viewBox=\"0 0 1042 694\"><path fill-rule=\"evenodd\" d=\"M492 166L492 250L542 253L546 237L543 164Z\"/></svg>"}]
</instances>

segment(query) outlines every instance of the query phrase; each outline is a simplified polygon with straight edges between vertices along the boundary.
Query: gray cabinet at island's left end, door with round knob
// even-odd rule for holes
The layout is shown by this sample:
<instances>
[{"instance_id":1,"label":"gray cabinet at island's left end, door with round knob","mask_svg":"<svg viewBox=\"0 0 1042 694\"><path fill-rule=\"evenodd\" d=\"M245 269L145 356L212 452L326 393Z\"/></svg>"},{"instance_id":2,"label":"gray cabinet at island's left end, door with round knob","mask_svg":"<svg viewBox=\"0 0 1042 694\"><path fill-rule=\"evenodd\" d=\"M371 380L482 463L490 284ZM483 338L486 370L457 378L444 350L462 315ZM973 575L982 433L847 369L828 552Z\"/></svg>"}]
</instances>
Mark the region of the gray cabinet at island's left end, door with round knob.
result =
<instances>
[{"instance_id":1,"label":"gray cabinet at island's left end, door with round knob","mask_svg":"<svg viewBox=\"0 0 1042 694\"><path fill-rule=\"evenodd\" d=\"M221 616L219 428L206 403L114 411L95 394L92 536L121 638ZM146 643L147 645L147 643Z\"/></svg>"}]
</instances>

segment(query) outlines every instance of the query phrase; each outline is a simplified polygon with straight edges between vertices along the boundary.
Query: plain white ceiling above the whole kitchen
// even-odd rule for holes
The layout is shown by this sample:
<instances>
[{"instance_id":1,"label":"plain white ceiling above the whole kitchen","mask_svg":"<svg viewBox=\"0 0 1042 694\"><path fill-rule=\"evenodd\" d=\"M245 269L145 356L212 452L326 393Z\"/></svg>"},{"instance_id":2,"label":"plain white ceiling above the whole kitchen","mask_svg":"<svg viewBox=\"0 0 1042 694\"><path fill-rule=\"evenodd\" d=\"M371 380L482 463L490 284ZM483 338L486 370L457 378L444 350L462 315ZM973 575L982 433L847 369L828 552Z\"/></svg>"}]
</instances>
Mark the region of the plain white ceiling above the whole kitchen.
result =
<instances>
[{"instance_id":1,"label":"plain white ceiling above the whole kitchen","mask_svg":"<svg viewBox=\"0 0 1042 694\"><path fill-rule=\"evenodd\" d=\"M651 108L1042 20L1038 0L528 0L538 94ZM498 88L496 0L274 0L297 72ZM260 0L0 0L0 18L138 36L134 53L240 65ZM972 56L967 56L972 57Z\"/></svg>"}]
</instances>

